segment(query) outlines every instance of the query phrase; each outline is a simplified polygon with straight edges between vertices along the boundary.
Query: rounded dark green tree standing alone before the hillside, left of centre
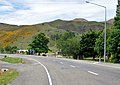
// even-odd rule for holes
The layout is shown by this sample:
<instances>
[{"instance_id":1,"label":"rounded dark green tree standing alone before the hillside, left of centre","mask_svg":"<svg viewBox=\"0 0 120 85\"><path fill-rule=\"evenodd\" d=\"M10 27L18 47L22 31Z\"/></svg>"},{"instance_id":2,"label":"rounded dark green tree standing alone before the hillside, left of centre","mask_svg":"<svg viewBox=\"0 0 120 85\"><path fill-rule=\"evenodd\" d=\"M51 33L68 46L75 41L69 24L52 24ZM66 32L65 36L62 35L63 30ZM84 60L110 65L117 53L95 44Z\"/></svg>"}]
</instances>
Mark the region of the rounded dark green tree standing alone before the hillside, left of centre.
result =
<instances>
[{"instance_id":1,"label":"rounded dark green tree standing alone before the hillside, left of centre","mask_svg":"<svg viewBox=\"0 0 120 85\"><path fill-rule=\"evenodd\" d=\"M44 33L38 34L34 37L31 44L29 44L30 49L34 49L36 53L47 53L49 48L47 44L49 43L49 39L45 36Z\"/></svg>"}]
</instances>

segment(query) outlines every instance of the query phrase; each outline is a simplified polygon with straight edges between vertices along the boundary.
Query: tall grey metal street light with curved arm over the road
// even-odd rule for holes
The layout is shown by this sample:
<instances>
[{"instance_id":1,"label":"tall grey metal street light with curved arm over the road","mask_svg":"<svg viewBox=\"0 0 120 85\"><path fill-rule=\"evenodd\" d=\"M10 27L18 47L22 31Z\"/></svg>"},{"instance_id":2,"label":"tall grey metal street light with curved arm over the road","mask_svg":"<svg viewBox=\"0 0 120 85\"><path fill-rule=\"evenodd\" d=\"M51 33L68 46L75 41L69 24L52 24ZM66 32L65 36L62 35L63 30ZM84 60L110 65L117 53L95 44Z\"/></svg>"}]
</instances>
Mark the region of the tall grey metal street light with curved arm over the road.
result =
<instances>
[{"instance_id":1,"label":"tall grey metal street light with curved arm over the road","mask_svg":"<svg viewBox=\"0 0 120 85\"><path fill-rule=\"evenodd\" d=\"M106 60L106 28L107 28L107 26L106 26L106 17L107 17L106 7L96 4L96 3L89 2L89 1L86 1L86 3L97 5L97 6L103 7L105 9L105 27L104 27L104 62L105 62L105 60Z\"/></svg>"}]
</instances>

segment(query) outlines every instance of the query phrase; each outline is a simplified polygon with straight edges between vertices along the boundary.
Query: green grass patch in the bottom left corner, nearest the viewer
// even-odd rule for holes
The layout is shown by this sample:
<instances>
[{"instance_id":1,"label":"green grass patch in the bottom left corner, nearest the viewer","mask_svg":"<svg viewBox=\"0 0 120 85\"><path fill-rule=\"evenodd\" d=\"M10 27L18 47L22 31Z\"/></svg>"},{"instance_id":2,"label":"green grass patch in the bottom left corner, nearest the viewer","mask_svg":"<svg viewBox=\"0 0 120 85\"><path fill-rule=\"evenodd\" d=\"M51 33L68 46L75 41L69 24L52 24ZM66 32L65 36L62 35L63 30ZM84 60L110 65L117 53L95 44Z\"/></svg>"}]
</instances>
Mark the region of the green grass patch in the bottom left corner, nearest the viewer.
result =
<instances>
[{"instance_id":1,"label":"green grass patch in the bottom left corner, nearest the viewer","mask_svg":"<svg viewBox=\"0 0 120 85\"><path fill-rule=\"evenodd\" d=\"M7 85L8 83L11 83L18 75L19 72L16 70L9 70L0 74L0 85Z\"/></svg>"}]
</instances>

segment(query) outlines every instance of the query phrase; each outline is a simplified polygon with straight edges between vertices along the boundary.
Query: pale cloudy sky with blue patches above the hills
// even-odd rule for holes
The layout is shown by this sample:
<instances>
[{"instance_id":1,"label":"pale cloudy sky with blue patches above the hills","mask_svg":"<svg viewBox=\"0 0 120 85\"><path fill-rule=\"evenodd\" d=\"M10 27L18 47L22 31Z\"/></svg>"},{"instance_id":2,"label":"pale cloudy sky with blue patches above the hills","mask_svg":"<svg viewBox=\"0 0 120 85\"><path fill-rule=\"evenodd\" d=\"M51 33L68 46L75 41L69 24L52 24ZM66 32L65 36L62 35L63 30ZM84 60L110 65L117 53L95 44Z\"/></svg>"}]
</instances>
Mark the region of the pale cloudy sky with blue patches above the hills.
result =
<instances>
[{"instance_id":1,"label":"pale cloudy sky with blue patches above the hills","mask_svg":"<svg viewBox=\"0 0 120 85\"><path fill-rule=\"evenodd\" d=\"M89 1L90 3L86 3ZM116 16L117 0L0 0L0 23L33 25L57 19L104 21Z\"/></svg>"}]
</instances>

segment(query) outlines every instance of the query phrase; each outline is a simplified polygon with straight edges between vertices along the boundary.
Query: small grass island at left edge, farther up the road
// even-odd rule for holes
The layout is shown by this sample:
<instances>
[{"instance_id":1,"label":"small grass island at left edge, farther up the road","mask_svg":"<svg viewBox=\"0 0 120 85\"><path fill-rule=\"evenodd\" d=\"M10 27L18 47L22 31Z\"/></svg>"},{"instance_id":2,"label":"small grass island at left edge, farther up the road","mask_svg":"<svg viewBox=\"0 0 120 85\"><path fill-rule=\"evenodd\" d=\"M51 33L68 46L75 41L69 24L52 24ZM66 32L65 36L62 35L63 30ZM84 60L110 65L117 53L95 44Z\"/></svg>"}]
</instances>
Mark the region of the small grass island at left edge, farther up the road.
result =
<instances>
[{"instance_id":1,"label":"small grass island at left edge, farther up the road","mask_svg":"<svg viewBox=\"0 0 120 85\"><path fill-rule=\"evenodd\" d=\"M25 61L23 61L22 58L4 57L0 60L8 63L14 63L14 64L25 63Z\"/></svg>"}]
</instances>

